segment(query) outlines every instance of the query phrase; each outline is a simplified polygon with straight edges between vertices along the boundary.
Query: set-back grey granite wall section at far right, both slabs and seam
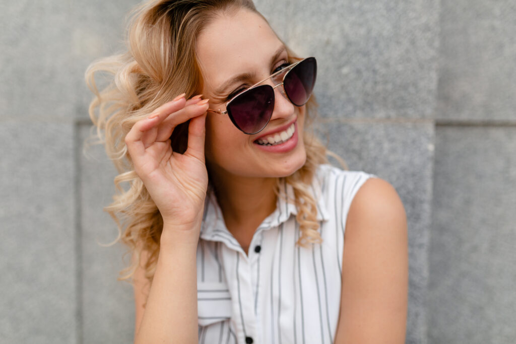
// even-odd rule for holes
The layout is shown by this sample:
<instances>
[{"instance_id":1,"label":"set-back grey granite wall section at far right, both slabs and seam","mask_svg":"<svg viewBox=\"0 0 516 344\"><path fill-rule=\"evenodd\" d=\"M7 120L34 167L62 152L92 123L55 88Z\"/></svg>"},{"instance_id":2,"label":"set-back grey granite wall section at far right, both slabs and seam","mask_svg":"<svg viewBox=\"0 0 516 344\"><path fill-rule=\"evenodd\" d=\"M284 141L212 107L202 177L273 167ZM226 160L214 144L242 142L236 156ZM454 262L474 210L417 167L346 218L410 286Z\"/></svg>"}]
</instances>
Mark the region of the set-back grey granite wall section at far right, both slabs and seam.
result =
<instances>
[{"instance_id":1,"label":"set-back grey granite wall section at far right, both slabs and seam","mask_svg":"<svg viewBox=\"0 0 516 344\"><path fill-rule=\"evenodd\" d=\"M428 339L516 342L516 3L443 1Z\"/></svg>"}]
</instances>

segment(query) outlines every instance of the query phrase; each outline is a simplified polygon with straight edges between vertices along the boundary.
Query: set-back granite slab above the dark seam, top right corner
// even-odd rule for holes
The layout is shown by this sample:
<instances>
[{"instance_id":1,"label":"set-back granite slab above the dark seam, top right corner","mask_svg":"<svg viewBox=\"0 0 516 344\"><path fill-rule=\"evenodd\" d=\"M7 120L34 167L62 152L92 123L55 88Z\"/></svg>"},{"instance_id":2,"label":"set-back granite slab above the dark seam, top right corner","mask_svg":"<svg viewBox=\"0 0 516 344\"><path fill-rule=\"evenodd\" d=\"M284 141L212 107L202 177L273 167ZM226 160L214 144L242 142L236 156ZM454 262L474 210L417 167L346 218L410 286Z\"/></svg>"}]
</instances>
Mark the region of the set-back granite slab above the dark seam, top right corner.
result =
<instances>
[{"instance_id":1,"label":"set-back granite slab above the dark seam, top right corner","mask_svg":"<svg viewBox=\"0 0 516 344\"><path fill-rule=\"evenodd\" d=\"M441 2L438 119L516 120L516 3Z\"/></svg>"}]
</instances>

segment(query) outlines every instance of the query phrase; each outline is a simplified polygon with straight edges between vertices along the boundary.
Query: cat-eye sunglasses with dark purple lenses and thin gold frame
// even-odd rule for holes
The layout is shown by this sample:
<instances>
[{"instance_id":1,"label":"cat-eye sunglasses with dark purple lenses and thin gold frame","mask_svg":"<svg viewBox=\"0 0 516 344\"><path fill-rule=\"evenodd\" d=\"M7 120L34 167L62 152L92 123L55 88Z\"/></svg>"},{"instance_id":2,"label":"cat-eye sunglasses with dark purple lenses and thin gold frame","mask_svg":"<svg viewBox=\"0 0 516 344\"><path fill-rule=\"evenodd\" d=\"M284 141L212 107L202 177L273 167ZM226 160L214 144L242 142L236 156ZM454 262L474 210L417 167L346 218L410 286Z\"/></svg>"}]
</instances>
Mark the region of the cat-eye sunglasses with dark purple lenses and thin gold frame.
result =
<instances>
[{"instance_id":1,"label":"cat-eye sunglasses with dark purple lenses and thin gold frame","mask_svg":"<svg viewBox=\"0 0 516 344\"><path fill-rule=\"evenodd\" d=\"M228 114L231 122L245 134L261 132L272 117L274 89L283 86L282 93L295 106L303 106L310 99L317 75L315 57L308 57L283 68L226 103L225 111L208 109L208 112ZM260 85L272 78L276 86Z\"/></svg>"}]
</instances>

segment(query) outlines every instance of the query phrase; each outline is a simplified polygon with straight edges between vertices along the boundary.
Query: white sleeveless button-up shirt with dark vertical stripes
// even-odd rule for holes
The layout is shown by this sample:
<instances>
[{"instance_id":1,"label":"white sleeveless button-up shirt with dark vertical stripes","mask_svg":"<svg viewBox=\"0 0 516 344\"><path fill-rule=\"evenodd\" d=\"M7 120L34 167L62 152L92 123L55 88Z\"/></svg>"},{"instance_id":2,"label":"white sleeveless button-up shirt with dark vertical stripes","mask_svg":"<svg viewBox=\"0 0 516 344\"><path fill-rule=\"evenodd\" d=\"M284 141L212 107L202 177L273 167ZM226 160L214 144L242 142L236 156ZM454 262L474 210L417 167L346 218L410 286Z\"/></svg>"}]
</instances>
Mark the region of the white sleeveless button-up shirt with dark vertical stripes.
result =
<instances>
[{"instance_id":1,"label":"white sleeveless button-up shirt with dark vertical stripes","mask_svg":"<svg viewBox=\"0 0 516 344\"><path fill-rule=\"evenodd\" d=\"M292 201L256 229L248 254L227 230L213 192L206 198L197 248L199 343L331 343L341 299L344 231L362 171L318 168L311 185L323 242L296 245ZM284 184L281 193L293 199Z\"/></svg>"}]
</instances>

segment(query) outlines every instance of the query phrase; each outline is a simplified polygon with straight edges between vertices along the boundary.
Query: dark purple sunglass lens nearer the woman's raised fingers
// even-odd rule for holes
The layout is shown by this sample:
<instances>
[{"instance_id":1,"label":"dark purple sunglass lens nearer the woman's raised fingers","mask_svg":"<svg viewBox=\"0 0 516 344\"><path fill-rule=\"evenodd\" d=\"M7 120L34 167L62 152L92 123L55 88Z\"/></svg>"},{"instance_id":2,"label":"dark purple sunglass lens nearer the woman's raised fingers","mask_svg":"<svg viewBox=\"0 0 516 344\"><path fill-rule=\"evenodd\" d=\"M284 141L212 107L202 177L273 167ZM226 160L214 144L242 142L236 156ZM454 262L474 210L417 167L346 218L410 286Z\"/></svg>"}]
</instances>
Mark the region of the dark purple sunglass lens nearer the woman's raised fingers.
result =
<instances>
[{"instance_id":1,"label":"dark purple sunglass lens nearer the woman's raised fingers","mask_svg":"<svg viewBox=\"0 0 516 344\"><path fill-rule=\"evenodd\" d=\"M260 132L272 116L274 90L270 85L251 88L233 99L227 107L229 117L246 134Z\"/></svg>"}]
</instances>

